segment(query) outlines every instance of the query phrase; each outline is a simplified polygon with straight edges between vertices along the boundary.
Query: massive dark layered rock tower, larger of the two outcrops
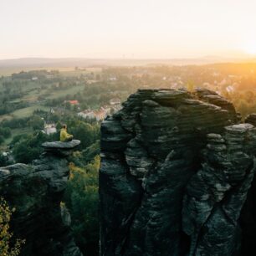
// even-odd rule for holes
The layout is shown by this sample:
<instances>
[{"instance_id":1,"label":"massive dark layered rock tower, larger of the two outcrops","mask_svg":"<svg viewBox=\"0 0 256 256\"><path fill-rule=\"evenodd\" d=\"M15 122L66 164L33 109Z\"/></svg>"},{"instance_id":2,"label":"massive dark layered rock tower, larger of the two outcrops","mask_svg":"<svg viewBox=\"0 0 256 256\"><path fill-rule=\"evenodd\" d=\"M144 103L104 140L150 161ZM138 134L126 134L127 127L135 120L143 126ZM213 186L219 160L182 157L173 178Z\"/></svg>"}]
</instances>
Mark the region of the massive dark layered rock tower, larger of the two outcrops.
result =
<instances>
[{"instance_id":1,"label":"massive dark layered rock tower, larger of the two outcrops","mask_svg":"<svg viewBox=\"0 0 256 256\"><path fill-rule=\"evenodd\" d=\"M245 255L256 129L238 121L209 90L138 90L108 117L100 255Z\"/></svg>"}]
</instances>

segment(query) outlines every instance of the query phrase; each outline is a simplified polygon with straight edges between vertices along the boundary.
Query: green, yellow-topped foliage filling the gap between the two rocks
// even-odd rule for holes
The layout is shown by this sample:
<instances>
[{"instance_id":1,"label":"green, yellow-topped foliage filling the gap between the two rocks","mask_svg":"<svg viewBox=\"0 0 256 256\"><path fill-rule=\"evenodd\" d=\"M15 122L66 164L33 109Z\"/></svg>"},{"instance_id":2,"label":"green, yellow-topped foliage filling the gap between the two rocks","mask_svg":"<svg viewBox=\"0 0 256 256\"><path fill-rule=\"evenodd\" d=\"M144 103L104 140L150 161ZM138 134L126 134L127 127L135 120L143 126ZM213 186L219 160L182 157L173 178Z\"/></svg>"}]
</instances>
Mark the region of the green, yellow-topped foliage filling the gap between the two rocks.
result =
<instances>
[{"instance_id":1,"label":"green, yellow-topped foliage filling the gap between the two rocks","mask_svg":"<svg viewBox=\"0 0 256 256\"><path fill-rule=\"evenodd\" d=\"M85 256L99 254L99 192L100 156L84 168L69 165L70 179L64 202L69 208L74 238Z\"/></svg>"}]
</instances>

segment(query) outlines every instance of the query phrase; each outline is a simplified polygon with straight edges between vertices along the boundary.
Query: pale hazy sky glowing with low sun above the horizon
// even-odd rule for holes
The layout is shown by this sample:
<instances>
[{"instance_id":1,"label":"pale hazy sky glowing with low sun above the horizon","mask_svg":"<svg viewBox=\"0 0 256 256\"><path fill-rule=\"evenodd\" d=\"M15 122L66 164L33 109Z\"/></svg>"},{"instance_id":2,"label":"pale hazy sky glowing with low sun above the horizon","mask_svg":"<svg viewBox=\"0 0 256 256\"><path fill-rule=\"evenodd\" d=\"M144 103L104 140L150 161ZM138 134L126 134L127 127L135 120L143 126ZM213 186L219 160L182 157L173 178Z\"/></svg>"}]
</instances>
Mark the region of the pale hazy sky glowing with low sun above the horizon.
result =
<instances>
[{"instance_id":1,"label":"pale hazy sky glowing with low sun above the horizon","mask_svg":"<svg viewBox=\"0 0 256 256\"><path fill-rule=\"evenodd\" d=\"M0 59L256 54L255 0L0 0Z\"/></svg>"}]
</instances>

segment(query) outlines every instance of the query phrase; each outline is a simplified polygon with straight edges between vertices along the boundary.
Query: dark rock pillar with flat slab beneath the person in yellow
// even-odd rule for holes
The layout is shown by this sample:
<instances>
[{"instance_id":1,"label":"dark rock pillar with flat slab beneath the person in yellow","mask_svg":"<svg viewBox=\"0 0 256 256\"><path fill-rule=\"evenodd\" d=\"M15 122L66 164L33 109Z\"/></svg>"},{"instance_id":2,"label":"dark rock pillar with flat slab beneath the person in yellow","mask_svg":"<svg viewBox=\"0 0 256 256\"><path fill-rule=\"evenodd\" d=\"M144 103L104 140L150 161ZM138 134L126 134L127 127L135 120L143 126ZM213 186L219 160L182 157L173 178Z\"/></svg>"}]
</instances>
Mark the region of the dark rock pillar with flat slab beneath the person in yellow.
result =
<instances>
[{"instance_id":1,"label":"dark rock pillar with flat slab beneath the person in yellow","mask_svg":"<svg viewBox=\"0 0 256 256\"><path fill-rule=\"evenodd\" d=\"M32 165L0 168L0 195L16 208L11 223L26 240L23 256L82 256L70 234L60 202L69 177L68 156L79 141L48 142Z\"/></svg>"}]
</instances>

